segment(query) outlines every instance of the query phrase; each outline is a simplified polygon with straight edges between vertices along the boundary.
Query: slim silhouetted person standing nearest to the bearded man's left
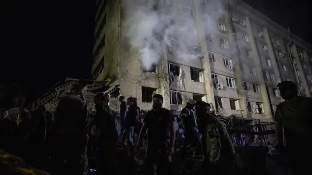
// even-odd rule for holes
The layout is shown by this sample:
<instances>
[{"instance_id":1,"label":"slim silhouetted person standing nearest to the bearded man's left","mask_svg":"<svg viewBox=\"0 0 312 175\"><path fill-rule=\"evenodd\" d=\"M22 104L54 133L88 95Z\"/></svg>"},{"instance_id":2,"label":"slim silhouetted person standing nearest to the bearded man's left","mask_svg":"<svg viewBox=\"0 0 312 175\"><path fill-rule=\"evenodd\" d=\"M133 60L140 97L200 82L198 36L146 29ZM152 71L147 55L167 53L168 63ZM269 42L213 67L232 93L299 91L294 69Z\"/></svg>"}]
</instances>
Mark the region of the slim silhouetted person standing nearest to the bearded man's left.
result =
<instances>
[{"instance_id":1,"label":"slim silhouetted person standing nearest to the bearded man's left","mask_svg":"<svg viewBox=\"0 0 312 175\"><path fill-rule=\"evenodd\" d=\"M123 148L127 151L128 156L134 156L134 132L137 123L137 105L135 99L129 97L127 99L128 110L125 115L125 124L123 126L123 133L121 143Z\"/></svg>"}]
</instances>

